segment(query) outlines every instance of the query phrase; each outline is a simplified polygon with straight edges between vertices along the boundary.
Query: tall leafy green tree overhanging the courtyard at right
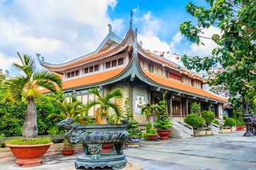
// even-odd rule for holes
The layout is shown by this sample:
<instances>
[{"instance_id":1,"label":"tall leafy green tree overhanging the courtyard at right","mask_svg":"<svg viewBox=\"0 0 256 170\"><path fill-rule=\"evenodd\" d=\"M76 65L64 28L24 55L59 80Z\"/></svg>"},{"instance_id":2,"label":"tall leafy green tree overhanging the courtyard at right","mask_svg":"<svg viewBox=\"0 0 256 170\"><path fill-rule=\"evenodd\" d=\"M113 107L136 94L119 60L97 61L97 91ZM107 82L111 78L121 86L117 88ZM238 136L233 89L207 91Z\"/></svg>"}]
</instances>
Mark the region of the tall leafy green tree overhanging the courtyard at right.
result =
<instances>
[{"instance_id":1,"label":"tall leafy green tree overhanging the courtyard at right","mask_svg":"<svg viewBox=\"0 0 256 170\"><path fill-rule=\"evenodd\" d=\"M211 39L217 47L211 56L182 56L187 68L208 71L209 84L228 90L233 107L243 113L253 109L256 99L256 1L206 0L209 7L187 4L187 12L197 20L180 25L180 32L192 43ZM214 26L221 34L204 36L204 29ZM256 101L256 100L255 100Z\"/></svg>"}]
</instances>

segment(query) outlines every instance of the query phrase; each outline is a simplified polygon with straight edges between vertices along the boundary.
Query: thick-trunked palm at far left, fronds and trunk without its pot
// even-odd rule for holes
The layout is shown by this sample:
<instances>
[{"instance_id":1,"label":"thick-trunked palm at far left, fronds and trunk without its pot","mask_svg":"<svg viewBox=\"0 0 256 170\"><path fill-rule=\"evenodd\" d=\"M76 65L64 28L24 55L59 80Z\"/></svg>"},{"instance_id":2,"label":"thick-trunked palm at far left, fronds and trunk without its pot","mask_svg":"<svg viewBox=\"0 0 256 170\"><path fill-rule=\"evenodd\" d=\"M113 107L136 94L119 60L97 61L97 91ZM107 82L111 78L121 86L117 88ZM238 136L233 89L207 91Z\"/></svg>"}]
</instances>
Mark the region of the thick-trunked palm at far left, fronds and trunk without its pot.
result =
<instances>
[{"instance_id":1,"label":"thick-trunked palm at far left, fronds and trunk without its pot","mask_svg":"<svg viewBox=\"0 0 256 170\"><path fill-rule=\"evenodd\" d=\"M57 92L56 86L62 88L62 79L57 74L46 70L37 71L35 61L30 56L17 54L21 64L13 63L13 67L22 71L22 74L8 79L5 87L12 99L17 101L25 99L28 102L22 135L25 139L35 138L37 137L37 109L34 100L37 95L40 95L38 87Z\"/></svg>"}]
</instances>

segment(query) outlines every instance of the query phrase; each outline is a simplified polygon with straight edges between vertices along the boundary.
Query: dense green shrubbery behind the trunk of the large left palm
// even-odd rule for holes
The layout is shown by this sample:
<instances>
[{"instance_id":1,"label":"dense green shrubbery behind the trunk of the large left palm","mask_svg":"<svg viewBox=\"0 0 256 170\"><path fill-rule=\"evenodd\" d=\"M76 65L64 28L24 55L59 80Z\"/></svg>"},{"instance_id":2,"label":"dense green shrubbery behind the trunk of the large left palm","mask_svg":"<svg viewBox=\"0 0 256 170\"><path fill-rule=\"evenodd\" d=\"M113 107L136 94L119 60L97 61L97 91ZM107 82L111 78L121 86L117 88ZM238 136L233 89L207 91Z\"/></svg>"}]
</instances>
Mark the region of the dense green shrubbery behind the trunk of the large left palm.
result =
<instances>
[{"instance_id":1,"label":"dense green shrubbery behind the trunk of the large left palm","mask_svg":"<svg viewBox=\"0 0 256 170\"><path fill-rule=\"evenodd\" d=\"M63 99L62 94L42 95L35 99L37 108L38 135L62 134L63 130L57 128L57 123L62 119L46 119L51 113L60 113L56 100ZM6 137L21 136L25 119L25 102L4 102L0 104L0 132Z\"/></svg>"}]
</instances>

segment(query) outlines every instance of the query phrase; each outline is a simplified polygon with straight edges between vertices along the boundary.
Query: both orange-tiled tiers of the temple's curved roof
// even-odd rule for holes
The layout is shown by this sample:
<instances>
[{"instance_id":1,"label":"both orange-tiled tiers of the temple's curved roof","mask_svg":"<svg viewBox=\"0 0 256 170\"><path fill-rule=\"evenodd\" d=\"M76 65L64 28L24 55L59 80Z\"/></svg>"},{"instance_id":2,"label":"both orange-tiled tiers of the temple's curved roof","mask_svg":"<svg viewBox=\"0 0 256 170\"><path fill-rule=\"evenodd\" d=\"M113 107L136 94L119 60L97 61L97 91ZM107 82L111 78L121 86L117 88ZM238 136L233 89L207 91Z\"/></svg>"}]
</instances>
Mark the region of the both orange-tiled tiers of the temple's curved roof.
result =
<instances>
[{"instance_id":1,"label":"both orange-tiled tiers of the temple's curved roof","mask_svg":"<svg viewBox=\"0 0 256 170\"><path fill-rule=\"evenodd\" d=\"M132 80L134 77L136 77L139 78L139 80L144 81L145 83L156 88L181 92L185 95L191 95L193 97L199 97L203 99L211 99L216 102L227 102L226 98L216 95L212 92L208 92L206 90L193 87L192 85L186 85L170 78L165 78L163 76L150 73L149 71L145 71L139 64L139 57L144 57L144 59L155 61L156 63L160 63L163 67L171 68L175 71L178 71L180 74L187 75L192 79L205 82L201 75L192 73L186 68L179 66L177 63L168 61L168 59L163 58L163 56L158 56L143 49L136 40L136 31L134 32L132 26L130 26L123 40L112 32L111 26L109 27L109 34L105 37L98 49L93 51L91 54L86 54L77 59L61 64L46 63L42 56L38 56L40 64L50 71L54 71L63 75L66 70L71 68L76 68L86 63L100 61L102 59L106 59L107 57L120 54L122 51L127 51L127 54L130 55L131 59L129 59L129 63L124 68L115 68L110 71L94 73L91 75L73 78L71 80L64 80L63 90L71 90L81 87L88 88L97 85L107 85L110 83L115 83L124 78L131 78ZM47 92L45 90L43 91Z\"/></svg>"}]
</instances>

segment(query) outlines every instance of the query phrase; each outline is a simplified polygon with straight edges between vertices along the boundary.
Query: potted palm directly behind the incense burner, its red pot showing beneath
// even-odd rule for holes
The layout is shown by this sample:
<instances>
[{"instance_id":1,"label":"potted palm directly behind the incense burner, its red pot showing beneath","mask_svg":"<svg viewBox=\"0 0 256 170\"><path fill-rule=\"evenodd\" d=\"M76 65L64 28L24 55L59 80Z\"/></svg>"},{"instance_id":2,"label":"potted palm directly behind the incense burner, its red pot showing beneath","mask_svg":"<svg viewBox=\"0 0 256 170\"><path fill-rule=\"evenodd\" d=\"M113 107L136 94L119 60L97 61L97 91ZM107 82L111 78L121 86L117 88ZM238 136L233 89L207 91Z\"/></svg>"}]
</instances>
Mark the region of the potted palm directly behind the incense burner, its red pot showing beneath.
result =
<instances>
[{"instance_id":1,"label":"potted palm directly behind the incense burner, its red pot showing beneath","mask_svg":"<svg viewBox=\"0 0 256 170\"><path fill-rule=\"evenodd\" d=\"M116 102L112 102L112 99L122 99L123 95L120 90L114 90L109 94L103 95L100 93L97 87L92 88L89 92L97 97L95 101L88 102L86 105L86 112L94 106L98 106L99 109L96 111L96 122L98 124L118 124L122 116L120 107L117 106ZM110 116L110 108L115 112L113 116ZM102 152L111 152L113 145L110 143L103 144Z\"/></svg>"}]
</instances>

